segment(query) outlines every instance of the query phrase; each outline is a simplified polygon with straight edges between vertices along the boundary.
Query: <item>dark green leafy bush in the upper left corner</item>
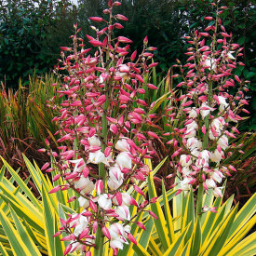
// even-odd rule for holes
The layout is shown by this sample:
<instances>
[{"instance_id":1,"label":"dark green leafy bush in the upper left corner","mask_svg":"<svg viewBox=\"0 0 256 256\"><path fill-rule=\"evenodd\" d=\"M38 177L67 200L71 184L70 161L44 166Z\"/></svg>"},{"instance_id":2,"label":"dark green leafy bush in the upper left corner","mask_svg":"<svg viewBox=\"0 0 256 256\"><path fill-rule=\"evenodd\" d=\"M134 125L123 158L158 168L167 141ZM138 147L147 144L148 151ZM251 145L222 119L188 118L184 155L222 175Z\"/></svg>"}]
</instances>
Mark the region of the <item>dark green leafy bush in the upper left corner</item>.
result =
<instances>
[{"instance_id":1,"label":"dark green leafy bush in the upper left corner","mask_svg":"<svg viewBox=\"0 0 256 256\"><path fill-rule=\"evenodd\" d=\"M76 16L70 6L56 0L0 2L0 81L8 88L18 88L20 78L28 85L34 71L52 70L61 44L72 33Z\"/></svg>"}]
</instances>

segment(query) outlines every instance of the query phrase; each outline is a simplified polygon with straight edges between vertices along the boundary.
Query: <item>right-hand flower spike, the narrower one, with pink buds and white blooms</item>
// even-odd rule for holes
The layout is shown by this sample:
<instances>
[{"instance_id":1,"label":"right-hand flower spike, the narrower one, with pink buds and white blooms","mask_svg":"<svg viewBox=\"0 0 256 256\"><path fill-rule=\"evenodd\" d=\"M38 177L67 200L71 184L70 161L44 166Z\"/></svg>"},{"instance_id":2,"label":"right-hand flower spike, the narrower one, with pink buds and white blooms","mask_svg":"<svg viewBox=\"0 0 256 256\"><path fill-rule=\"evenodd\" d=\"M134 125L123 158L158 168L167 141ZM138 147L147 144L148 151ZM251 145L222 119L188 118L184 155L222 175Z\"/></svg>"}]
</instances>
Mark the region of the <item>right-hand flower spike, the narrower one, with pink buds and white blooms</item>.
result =
<instances>
[{"instance_id":1,"label":"right-hand flower spike, the narrower one, with pink buds and white blooms","mask_svg":"<svg viewBox=\"0 0 256 256\"><path fill-rule=\"evenodd\" d=\"M213 195L222 196L219 184L236 171L225 162L232 155L232 151L227 153L229 141L239 134L240 114L249 113L244 108L248 81L233 74L244 65L237 61L243 48L232 42L232 34L222 25L224 8L217 7L216 19L205 18L215 24L185 36L191 45L185 53L189 58L184 66L180 61L175 65L181 74L174 77L182 80L177 88L184 93L178 99L170 97L174 104L166 110L170 132L165 135L172 136L168 144L175 149L171 159L181 179L178 193L199 187L201 192L212 189Z\"/></svg>"}]
</instances>

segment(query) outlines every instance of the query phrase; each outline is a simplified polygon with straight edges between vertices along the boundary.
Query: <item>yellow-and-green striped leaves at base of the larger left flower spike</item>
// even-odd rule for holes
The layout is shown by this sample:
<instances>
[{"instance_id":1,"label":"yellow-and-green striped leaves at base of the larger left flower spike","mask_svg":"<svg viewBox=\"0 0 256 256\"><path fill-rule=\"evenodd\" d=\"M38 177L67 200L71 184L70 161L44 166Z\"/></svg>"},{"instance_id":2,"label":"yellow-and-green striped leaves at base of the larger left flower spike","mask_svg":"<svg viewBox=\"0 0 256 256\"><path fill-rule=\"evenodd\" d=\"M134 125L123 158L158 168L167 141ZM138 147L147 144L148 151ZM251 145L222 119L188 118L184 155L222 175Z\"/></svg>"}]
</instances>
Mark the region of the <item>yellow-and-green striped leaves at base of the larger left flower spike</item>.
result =
<instances>
[{"instance_id":1,"label":"yellow-and-green striped leaves at base of the larger left flower spike","mask_svg":"<svg viewBox=\"0 0 256 256\"><path fill-rule=\"evenodd\" d=\"M68 198L75 196L74 191L59 191L57 194L48 194L53 185L63 184L59 179L53 182L53 185L45 176L40 168L34 165L23 155L26 167L31 177L22 181L18 172L11 168L3 158L4 166L0 170L0 252L2 255L64 255L65 241L61 237L53 238L60 228L60 218L65 219L67 214L74 214L73 209L79 209L77 202L68 202ZM162 167L164 159L154 170L153 175ZM12 177L7 180L5 171L8 170ZM52 176L56 173L52 172ZM28 187L29 180L32 180L40 194L35 197ZM18 184L17 185L15 185ZM146 182L140 185L144 192L147 191ZM139 202L142 195L137 193L131 187L128 194L133 195ZM168 199L174 193L168 193ZM58 200L57 200L58 198ZM159 200L161 204L163 199ZM82 210L82 209L81 209ZM131 207L131 210L135 210ZM148 209L149 210L149 209ZM146 215L148 211L145 212ZM145 216L145 215L143 215ZM138 216L141 220L142 214ZM137 235L136 223L133 225L133 234ZM127 248L128 255L135 255L136 249L143 250L139 247ZM135 251L134 251L135 250ZM109 244L104 244L103 255L113 255L113 249ZM124 252L121 252L121 255ZM69 253L68 255L79 255ZM92 250L94 255L94 250Z\"/></svg>"}]
</instances>

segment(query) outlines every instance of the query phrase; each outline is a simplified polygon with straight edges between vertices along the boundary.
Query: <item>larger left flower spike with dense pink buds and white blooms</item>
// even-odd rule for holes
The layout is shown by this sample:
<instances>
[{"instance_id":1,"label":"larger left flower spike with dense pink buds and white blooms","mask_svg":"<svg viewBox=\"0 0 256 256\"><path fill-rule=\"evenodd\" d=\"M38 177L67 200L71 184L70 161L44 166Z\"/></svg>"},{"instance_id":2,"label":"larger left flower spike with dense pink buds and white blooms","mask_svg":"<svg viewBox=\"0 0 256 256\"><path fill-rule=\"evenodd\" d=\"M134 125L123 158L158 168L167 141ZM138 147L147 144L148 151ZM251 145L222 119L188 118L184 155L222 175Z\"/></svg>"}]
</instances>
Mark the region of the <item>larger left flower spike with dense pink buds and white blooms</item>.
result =
<instances>
[{"instance_id":1,"label":"larger left flower spike with dense pink buds and white blooms","mask_svg":"<svg viewBox=\"0 0 256 256\"><path fill-rule=\"evenodd\" d=\"M90 255L92 247L101 249L103 240L97 244L97 236L107 237L115 255L128 240L136 244L129 224L150 203L139 183L151 171L144 159L155 154L149 144L157 135L141 129L151 126L155 118L148 114L154 103L143 101L141 95L156 88L144 80L157 65L152 60L156 48L147 47L145 38L141 54L136 50L129 54L132 41L124 36L113 38L113 31L123 28L119 21L128 20L121 14L113 15L113 7L120 5L109 1L109 8L103 11L108 20L90 18L101 25L101 29L91 26L95 36L87 35L95 51L85 48L74 25L74 46L61 47L57 70L63 81L58 91L63 101L61 106L48 101L60 112L53 120L60 125L56 134L61 146L58 153L48 153L55 158L53 167L46 164L43 169L59 171L54 182L60 178L66 181L49 193L74 189L79 195L69 201L78 200L80 209L61 220L56 235L68 234L62 238L70 241L65 254L80 250ZM130 187L141 195L140 205L127 193ZM137 208L134 216L130 206ZM138 225L144 228L141 222Z\"/></svg>"}]
</instances>

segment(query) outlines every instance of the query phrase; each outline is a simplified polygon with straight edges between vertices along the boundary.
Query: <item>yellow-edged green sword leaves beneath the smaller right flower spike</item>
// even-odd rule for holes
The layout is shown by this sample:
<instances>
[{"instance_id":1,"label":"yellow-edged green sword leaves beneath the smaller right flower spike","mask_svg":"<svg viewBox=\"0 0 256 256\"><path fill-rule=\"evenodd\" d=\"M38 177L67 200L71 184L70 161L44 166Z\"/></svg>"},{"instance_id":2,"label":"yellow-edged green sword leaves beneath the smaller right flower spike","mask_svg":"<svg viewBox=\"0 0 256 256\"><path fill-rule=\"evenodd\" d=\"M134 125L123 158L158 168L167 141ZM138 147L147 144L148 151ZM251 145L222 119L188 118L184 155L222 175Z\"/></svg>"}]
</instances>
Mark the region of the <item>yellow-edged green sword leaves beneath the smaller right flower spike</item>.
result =
<instances>
[{"instance_id":1,"label":"yellow-edged green sword leaves beneath the smaller right flower spike","mask_svg":"<svg viewBox=\"0 0 256 256\"><path fill-rule=\"evenodd\" d=\"M156 196L152 174L148 192L150 198ZM238 210L238 204L233 206L234 195L222 202L222 197L214 199L209 190L203 199L203 205L209 207L200 218L195 213L193 191L175 194L175 190L167 193L163 186L163 195L151 206L158 220L148 219L146 214L142 217L146 230L137 235L137 248L130 245L137 255L255 255L256 232L248 234L256 223L256 194Z\"/></svg>"}]
</instances>

